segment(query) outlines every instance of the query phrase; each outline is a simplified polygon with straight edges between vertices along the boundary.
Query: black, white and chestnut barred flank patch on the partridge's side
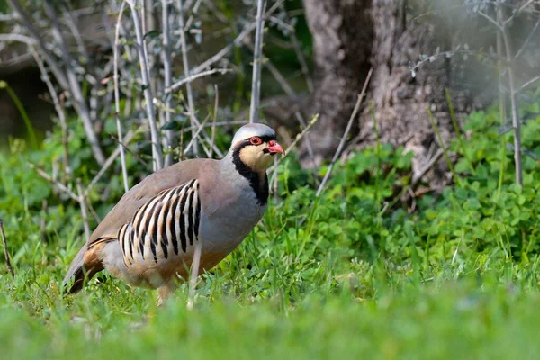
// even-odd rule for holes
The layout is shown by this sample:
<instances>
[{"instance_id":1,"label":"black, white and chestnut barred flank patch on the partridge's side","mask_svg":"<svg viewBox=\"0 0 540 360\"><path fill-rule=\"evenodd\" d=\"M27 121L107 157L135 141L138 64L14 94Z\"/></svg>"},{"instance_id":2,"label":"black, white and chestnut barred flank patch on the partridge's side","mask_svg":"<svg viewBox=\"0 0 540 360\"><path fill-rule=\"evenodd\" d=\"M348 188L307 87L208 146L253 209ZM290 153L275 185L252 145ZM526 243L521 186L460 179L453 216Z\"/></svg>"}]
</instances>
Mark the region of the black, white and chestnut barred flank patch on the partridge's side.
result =
<instances>
[{"instance_id":1,"label":"black, white and chestnut barred flank patch on the partridge's side","mask_svg":"<svg viewBox=\"0 0 540 360\"><path fill-rule=\"evenodd\" d=\"M199 181L159 193L144 204L118 232L124 263L154 262L186 253L198 241L201 220Z\"/></svg>"}]
</instances>

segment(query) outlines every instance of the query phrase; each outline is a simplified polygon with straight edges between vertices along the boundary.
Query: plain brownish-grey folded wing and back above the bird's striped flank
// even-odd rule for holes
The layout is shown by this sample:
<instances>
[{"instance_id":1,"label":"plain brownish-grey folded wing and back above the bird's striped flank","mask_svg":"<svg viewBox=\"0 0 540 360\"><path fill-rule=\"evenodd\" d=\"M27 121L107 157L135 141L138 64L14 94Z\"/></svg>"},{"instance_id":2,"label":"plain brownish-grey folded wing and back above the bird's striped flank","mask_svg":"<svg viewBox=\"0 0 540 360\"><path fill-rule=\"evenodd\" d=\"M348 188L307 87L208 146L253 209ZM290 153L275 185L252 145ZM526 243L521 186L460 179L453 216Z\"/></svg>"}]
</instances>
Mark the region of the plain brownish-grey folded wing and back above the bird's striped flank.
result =
<instances>
[{"instance_id":1,"label":"plain brownish-grey folded wing and back above the bird's striped flank","mask_svg":"<svg viewBox=\"0 0 540 360\"><path fill-rule=\"evenodd\" d=\"M216 163L217 160L211 159L186 160L148 175L125 193L109 211L90 236L88 247L117 238L121 226L133 220L135 213L144 204L163 191L181 186L202 175L206 176L211 173L211 168L215 167Z\"/></svg>"}]
</instances>

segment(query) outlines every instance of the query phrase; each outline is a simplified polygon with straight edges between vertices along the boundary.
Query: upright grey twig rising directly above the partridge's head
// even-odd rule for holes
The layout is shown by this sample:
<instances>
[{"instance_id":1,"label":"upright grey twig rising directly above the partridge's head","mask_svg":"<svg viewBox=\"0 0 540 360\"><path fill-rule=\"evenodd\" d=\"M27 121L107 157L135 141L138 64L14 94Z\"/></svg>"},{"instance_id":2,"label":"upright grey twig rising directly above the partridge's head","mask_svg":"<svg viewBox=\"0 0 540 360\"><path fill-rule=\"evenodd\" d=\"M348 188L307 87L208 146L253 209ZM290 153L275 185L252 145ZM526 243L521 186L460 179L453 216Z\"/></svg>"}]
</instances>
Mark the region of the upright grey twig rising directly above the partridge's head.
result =
<instances>
[{"instance_id":1,"label":"upright grey twig rising directly above the partridge's head","mask_svg":"<svg viewBox=\"0 0 540 360\"><path fill-rule=\"evenodd\" d=\"M265 30L266 0L257 0L257 26L255 33L255 50L253 56L253 76L251 79L251 106L249 122L258 122L259 103L261 101L261 68L263 53L263 31Z\"/></svg>"}]
</instances>

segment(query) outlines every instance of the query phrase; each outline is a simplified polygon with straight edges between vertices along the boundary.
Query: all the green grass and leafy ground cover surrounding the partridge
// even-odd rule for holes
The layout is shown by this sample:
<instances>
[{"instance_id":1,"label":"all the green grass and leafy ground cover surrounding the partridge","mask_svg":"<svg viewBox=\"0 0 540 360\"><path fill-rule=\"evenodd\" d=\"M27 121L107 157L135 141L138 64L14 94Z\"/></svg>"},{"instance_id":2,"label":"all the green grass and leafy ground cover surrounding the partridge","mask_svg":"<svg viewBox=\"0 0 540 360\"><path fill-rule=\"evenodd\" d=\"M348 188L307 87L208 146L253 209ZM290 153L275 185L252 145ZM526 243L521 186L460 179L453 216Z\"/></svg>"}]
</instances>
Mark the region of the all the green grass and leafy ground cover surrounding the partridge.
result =
<instances>
[{"instance_id":1,"label":"all the green grass and leafy ground cover surrounding the partridge","mask_svg":"<svg viewBox=\"0 0 540 360\"><path fill-rule=\"evenodd\" d=\"M25 166L50 173L58 134L40 152L14 141L0 154L0 217L16 272L0 265L1 357L537 358L540 166L526 157L525 186L513 184L512 153L501 146L510 135L497 133L497 121L495 112L470 117L470 137L448 146L467 151L455 164L458 184L417 199L415 211L401 202L411 157L400 148L356 154L317 202L310 173L287 157L279 200L202 275L193 311L185 285L162 308L155 292L110 277L62 296L82 243L80 213ZM524 146L538 153L540 118L524 128ZM74 131L70 161L87 183L96 168ZM117 177L90 194L100 216L121 196Z\"/></svg>"}]
</instances>

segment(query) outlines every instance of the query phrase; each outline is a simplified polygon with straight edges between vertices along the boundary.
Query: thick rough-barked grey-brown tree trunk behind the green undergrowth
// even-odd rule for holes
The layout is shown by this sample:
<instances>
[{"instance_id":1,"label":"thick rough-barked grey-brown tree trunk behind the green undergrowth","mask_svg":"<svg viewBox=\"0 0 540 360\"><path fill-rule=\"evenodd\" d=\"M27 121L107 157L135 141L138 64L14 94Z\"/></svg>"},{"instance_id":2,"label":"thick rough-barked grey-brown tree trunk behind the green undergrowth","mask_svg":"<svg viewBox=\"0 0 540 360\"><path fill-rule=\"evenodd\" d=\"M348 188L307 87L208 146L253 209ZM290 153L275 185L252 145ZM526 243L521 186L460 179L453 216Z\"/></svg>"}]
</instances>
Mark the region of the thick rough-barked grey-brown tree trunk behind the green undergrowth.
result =
<instances>
[{"instance_id":1,"label":"thick rough-barked grey-brown tree trunk behind the green undergrowth","mask_svg":"<svg viewBox=\"0 0 540 360\"><path fill-rule=\"evenodd\" d=\"M457 85L459 71L450 71L453 59L437 58L411 75L411 63L421 54L445 50L451 39L437 35L449 32L444 23L414 23L407 5L407 0L304 0L316 71L310 110L320 113L311 142L320 157L337 148L371 67L374 74L353 135L361 146L374 144L372 103L381 141L413 151L417 173L440 148L427 107L445 145L454 133L445 89L453 96L458 117L473 109L471 92ZM442 158L428 173L428 182L439 186L448 179Z\"/></svg>"}]
</instances>

